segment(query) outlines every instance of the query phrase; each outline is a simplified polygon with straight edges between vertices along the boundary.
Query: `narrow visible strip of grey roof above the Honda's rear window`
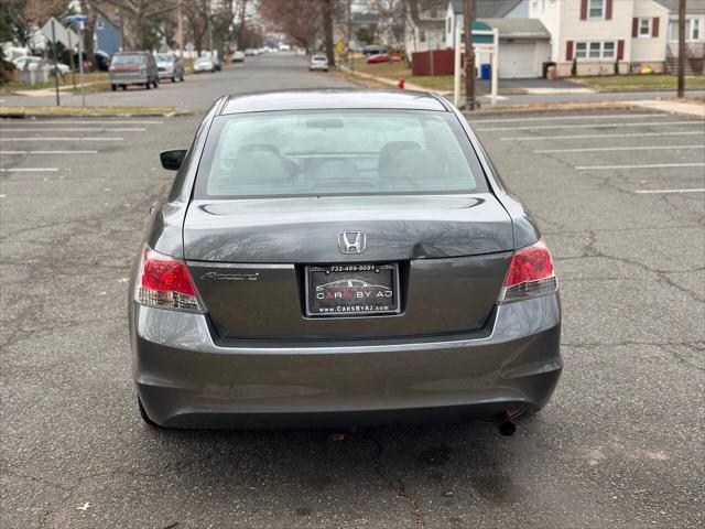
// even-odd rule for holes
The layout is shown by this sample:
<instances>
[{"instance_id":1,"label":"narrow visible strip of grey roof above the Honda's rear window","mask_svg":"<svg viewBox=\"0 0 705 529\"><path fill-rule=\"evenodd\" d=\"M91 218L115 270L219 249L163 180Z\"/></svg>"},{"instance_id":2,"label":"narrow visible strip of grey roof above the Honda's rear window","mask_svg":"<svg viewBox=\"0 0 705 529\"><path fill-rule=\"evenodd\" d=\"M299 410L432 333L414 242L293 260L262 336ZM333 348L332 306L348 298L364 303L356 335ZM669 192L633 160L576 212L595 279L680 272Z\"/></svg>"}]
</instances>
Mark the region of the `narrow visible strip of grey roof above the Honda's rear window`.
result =
<instances>
[{"instance_id":1,"label":"narrow visible strip of grey roof above the Honda's rear window","mask_svg":"<svg viewBox=\"0 0 705 529\"><path fill-rule=\"evenodd\" d=\"M425 91L330 88L232 95L220 114L368 108L448 111L438 96Z\"/></svg>"}]
</instances>

